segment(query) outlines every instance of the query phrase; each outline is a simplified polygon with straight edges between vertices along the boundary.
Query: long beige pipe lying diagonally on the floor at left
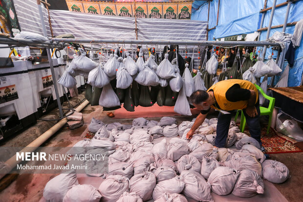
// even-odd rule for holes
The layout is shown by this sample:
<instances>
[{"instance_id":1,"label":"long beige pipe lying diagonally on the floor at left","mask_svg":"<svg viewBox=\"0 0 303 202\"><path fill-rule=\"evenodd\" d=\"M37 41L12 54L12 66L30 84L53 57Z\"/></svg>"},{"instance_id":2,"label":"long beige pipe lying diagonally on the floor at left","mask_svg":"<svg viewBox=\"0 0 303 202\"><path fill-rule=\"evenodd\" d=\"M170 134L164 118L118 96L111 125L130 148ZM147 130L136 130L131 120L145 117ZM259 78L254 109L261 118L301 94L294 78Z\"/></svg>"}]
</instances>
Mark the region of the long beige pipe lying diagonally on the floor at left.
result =
<instances>
[{"instance_id":1,"label":"long beige pipe lying diagonally on the floor at left","mask_svg":"<svg viewBox=\"0 0 303 202\"><path fill-rule=\"evenodd\" d=\"M85 100L81 105L79 105L75 110L76 112L81 112L89 102ZM37 139L29 143L26 147L24 147L20 153L23 152L33 152L35 151L39 146L41 146L49 137L54 135L57 131L59 131L67 122L67 118L62 119L58 123L56 123L53 127L48 129L45 133L40 135ZM18 163L20 163L22 160L16 158L16 155L13 157L10 157L6 162L5 166L0 169L0 179L2 179L7 173L9 173L15 166L17 166Z\"/></svg>"}]
</instances>

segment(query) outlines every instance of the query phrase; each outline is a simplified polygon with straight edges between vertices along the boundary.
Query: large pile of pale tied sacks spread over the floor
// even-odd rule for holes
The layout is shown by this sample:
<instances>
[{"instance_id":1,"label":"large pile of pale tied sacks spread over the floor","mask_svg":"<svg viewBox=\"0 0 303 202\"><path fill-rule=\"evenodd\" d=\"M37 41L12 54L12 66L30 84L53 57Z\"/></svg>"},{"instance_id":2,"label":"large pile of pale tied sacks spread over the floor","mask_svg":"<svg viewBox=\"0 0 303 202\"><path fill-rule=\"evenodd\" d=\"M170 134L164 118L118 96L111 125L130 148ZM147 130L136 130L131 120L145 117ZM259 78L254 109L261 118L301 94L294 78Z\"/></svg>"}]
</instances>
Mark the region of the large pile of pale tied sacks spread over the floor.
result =
<instances>
[{"instance_id":1,"label":"large pile of pale tied sacks spread over the floor","mask_svg":"<svg viewBox=\"0 0 303 202\"><path fill-rule=\"evenodd\" d=\"M203 128L214 128L216 121L207 120L197 133ZM182 122L176 134L187 134L192 123ZM92 124L99 126L99 121L93 119ZM78 185L75 172L71 172L50 180L44 188L44 198L55 202L98 201L101 197L106 202L151 199L162 202L186 201L186 196L195 201L213 202L211 190L218 195L248 198L264 193L262 177L273 183L289 178L287 167L278 161L265 160L257 147L260 144L239 133L234 123L229 131L232 141L228 140L227 144L238 140L236 147L240 150L237 151L215 148L208 143L214 141L211 135L216 134L195 134L190 141L173 137L170 141L163 138L156 144L151 143L152 135L163 135L166 127L174 125L174 118L163 117L159 122L137 118L132 125L115 122L102 126L93 139L79 141L67 152L71 155L108 153L108 173L103 161L84 162L89 167L87 175L106 178L99 189ZM85 191L79 191L84 188Z\"/></svg>"}]
</instances>

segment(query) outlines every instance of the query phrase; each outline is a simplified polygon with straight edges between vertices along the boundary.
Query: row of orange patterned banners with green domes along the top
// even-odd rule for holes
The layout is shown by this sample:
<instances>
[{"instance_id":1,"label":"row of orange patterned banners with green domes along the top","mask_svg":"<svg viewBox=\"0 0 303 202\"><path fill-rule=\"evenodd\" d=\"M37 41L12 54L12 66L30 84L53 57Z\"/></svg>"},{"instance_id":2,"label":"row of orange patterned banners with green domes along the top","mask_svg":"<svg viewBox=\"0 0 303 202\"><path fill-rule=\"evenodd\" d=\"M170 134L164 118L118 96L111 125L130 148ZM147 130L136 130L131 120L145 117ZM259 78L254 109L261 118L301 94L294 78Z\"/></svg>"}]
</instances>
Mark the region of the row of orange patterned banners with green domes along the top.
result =
<instances>
[{"instance_id":1,"label":"row of orange patterned banners with green domes along the top","mask_svg":"<svg viewBox=\"0 0 303 202\"><path fill-rule=\"evenodd\" d=\"M180 2L98 2L66 0L69 11L133 18L191 19L192 0ZM98 5L99 4L99 5Z\"/></svg>"}]
</instances>

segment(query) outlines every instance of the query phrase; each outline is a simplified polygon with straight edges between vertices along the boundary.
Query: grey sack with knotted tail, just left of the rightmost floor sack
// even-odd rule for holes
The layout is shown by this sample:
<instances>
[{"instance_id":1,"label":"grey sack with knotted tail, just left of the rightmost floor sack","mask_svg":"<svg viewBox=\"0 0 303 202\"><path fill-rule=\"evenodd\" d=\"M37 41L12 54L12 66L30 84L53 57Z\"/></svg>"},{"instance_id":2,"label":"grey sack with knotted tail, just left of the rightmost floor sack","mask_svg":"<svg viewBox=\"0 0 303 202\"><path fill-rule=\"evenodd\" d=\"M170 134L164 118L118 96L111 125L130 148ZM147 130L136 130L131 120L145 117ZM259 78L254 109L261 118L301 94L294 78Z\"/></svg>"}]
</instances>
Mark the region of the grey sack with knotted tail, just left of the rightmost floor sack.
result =
<instances>
[{"instance_id":1,"label":"grey sack with knotted tail, just left of the rightmost floor sack","mask_svg":"<svg viewBox=\"0 0 303 202\"><path fill-rule=\"evenodd\" d=\"M238 197L250 198L264 193L264 183L258 173L252 170L242 170L232 194Z\"/></svg>"}]
</instances>

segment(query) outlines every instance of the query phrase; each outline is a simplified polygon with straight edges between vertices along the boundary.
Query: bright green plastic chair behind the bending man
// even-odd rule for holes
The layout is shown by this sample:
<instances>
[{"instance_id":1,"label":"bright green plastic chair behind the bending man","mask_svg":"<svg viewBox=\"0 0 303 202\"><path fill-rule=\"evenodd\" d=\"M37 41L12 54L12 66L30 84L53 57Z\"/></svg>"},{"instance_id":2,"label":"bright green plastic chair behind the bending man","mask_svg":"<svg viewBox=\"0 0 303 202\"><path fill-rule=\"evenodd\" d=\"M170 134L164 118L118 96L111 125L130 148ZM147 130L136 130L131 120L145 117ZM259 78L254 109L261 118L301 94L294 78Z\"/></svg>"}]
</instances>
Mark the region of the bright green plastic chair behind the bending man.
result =
<instances>
[{"instance_id":1,"label":"bright green plastic chair behind the bending man","mask_svg":"<svg viewBox=\"0 0 303 202\"><path fill-rule=\"evenodd\" d=\"M269 100L269 105L268 108L265 107L260 107L260 115L269 115L269 120L268 120L268 126L267 126L267 134L269 133L269 128L270 128L270 124L271 124L271 118L273 115L273 111L274 111L274 106L275 106L275 98L270 97L268 95L265 94L265 92L260 88L260 86L258 86L257 84L255 84L255 86L257 87L257 89L260 91L260 93ZM240 131L243 133L245 126L246 126L246 119L244 116L244 113L242 110L238 110L236 117L235 117L235 121L237 121L238 118L238 114L241 111L241 122L240 122Z\"/></svg>"}]
</instances>

